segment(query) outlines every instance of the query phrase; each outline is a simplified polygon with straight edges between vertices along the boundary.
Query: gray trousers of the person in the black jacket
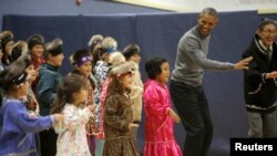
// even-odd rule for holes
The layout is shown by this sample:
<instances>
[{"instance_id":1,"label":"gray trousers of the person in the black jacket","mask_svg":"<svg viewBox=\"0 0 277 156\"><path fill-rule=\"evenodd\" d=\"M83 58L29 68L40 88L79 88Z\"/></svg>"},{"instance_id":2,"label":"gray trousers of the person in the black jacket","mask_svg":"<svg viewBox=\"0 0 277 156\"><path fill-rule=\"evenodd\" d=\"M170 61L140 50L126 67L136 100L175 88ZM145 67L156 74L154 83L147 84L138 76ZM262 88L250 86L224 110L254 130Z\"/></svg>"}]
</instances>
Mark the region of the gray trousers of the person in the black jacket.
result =
<instances>
[{"instance_id":1,"label":"gray trousers of the person in the black jacket","mask_svg":"<svg viewBox=\"0 0 277 156\"><path fill-rule=\"evenodd\" d=\"M276 137L276 110L268 113L247 112L248 137Z\"/></svg>"}]
</instances>

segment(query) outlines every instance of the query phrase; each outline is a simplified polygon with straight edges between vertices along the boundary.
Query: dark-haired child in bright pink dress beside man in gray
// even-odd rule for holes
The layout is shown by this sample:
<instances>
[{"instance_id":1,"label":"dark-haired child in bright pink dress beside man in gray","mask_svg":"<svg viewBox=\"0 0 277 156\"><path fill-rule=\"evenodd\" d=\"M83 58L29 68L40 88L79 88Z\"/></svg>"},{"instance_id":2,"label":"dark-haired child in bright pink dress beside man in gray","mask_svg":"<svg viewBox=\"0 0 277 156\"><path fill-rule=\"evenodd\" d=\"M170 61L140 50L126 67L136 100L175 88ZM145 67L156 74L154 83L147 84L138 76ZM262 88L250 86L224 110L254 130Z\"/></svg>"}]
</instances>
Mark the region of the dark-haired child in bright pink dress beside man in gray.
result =
<instances>
[{"instance_id":1,"label":"dark-haired child in bright pink dress beside man in gray","mask_svg":"<svg viewBox=\"0 0 277 156\"><path fill-rule=\"evenodd\" d=\"M166 82L170 64L165 59L153 58L145 63L148 80L144 84L145 144L144 156L182 156L174 138L173 122L179 123L172 110Z\"/></svg>"}]
</instances>

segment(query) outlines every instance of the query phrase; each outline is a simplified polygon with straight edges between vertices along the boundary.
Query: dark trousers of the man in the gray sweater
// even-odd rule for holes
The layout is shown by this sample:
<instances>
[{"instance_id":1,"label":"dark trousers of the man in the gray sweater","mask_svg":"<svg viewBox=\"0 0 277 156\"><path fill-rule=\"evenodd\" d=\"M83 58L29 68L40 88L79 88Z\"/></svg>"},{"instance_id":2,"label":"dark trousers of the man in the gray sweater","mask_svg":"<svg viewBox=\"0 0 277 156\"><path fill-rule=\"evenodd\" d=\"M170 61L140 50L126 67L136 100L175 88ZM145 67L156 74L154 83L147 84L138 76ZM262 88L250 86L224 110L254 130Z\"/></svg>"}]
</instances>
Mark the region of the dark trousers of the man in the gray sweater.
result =
<instances>
[{"instance_id":1,"label":"dark trousers of the man in the gray sweater","mask_svg":"<svg viewBox=\"0 0 277 156\"><path fill-rule=\"evenodd\" d=\"M171 81L171 96L185 127L185 156L205 156L213 139L213 123L202 86Z\"/></svg>"}]
</instances>

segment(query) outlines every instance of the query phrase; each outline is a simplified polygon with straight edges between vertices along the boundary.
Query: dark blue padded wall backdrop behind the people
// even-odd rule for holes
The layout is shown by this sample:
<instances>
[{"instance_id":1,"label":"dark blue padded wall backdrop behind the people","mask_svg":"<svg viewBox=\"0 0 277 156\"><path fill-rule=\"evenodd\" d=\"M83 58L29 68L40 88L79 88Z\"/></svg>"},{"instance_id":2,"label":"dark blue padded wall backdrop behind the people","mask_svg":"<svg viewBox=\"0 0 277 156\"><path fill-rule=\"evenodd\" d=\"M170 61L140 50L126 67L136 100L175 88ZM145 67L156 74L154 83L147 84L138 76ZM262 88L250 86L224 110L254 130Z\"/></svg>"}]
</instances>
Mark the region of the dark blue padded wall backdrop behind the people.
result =
<instances>
[{"instance_id":1,"label":"dark blue padded wall backdrop behind the people","mask_svg":"<svg viewBox=\"0 0 277 156\"><path fill-rule=\"evenodd\" d=\"M145 81L145 61L154 55L166 58L174 67L179 38L196 24L196 13L119 14L80 17L32 17L4 15L3 30L14 32L17 40L25 40L40 33L45 41L59 37L64 41L63 74L71 71L69 55L80 48L88 48L91 35L100 33L117 40L119 50L132 42L142 49L141 72ZM260 17L256 11L219 13L208 58L218 61L237 62L248 46ZM209 156L228 156L230 137L247 137L247 116L243 97L243 72L206 71L204 87L214 121L214 139ZM183 147L185 132L181 124L175 126L175 136ZM144 119L138 132L143 149Z\"/></svg>"}]
</instances>

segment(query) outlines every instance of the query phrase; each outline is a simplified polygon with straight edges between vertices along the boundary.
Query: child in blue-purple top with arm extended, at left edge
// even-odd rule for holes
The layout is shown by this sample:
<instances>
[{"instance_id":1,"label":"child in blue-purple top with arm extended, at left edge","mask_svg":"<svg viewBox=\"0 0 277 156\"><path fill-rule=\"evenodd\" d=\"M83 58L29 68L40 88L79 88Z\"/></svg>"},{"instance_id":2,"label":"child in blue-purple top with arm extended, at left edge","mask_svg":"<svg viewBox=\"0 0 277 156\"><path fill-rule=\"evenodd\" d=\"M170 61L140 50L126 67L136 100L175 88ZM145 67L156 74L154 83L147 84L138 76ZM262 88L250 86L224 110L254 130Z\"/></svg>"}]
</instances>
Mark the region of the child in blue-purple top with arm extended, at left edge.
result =
<instances>
[{"instance_id":1,"label":"child in blue-purple top with arm extended, at left edge","mask_svg":"<svg viewBox=\"0 0 277 156\"><path fill-rule=\"evenodd\" d=\"M24 62L12 63L0 74L0 85L6 98L0 110L0 155L38 156L34 133L52 127L63 119L55 114L31 116L23 103L30 89Z\"/></svg>"}]
</instances>

